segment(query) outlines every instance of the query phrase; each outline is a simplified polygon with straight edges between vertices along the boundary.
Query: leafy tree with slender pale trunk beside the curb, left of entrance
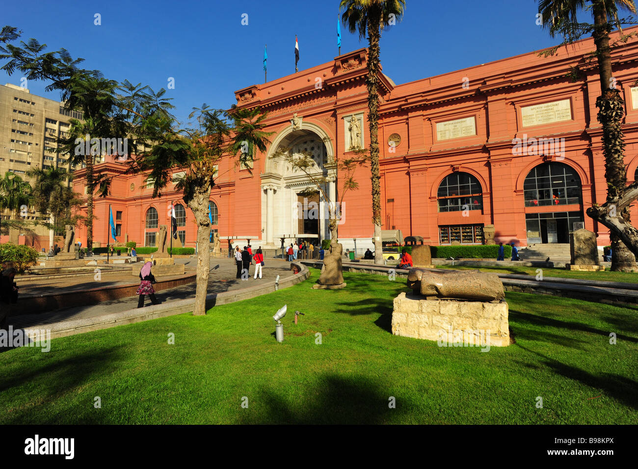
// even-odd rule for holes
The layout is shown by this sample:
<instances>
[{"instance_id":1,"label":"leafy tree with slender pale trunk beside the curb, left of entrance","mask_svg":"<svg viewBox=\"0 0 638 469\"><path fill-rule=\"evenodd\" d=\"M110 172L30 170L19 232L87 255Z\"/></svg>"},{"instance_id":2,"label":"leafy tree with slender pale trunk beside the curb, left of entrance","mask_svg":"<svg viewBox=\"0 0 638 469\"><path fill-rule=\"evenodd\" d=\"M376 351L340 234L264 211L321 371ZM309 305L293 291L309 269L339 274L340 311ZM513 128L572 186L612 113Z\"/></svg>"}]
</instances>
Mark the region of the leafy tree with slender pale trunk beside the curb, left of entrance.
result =
<instances>
[{"instance_id":1,"label":"leafy tree with slender pale trunk beside the curb, left of entrance","mask_svg":"<svg viewBox=\"0 0 638 469\"><path fill-rule=\"evenodd\" d=\"M249 167L258 149L265 153L270 142L265 132L265 114L259 108L244 109L232 107L230 111L193 108L189 119L196 117L195 128L176 132L174 118L156 115L158 133L148 151L140 152L135 161L135 171L147 174L147 181L153 182L153 197L173 181L176 169L184 175L175 179L175 190L183 193L182 200L193 211L197 223L197 288L193 315L206 314L206 294L208 289L211 252L209 241L211 220L209 202L211 191L218 175L217 167L221 158L235 157Z\"/></svg>"}]
</instances>

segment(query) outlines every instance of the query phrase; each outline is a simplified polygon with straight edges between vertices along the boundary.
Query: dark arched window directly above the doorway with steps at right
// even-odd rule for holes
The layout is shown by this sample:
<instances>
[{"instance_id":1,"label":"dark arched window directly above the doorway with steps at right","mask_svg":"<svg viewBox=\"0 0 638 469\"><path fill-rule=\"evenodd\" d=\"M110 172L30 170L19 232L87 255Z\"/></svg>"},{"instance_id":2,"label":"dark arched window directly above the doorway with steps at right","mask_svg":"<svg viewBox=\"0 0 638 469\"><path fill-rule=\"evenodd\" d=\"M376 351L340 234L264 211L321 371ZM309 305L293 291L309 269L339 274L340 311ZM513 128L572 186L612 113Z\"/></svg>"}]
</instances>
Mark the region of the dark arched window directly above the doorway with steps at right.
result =
<instances>
[{"instance_id":1,"label":"dark arched window directly above the doorway with steps at right","mask_svg":"<svg viewBox=\"0 0 638 469\"><path fill-rule=\"evenodd\" d=\"M543 163L523 183L526 207L581 203L581 178L565 163Z\"/></svg>"}]
</instances>

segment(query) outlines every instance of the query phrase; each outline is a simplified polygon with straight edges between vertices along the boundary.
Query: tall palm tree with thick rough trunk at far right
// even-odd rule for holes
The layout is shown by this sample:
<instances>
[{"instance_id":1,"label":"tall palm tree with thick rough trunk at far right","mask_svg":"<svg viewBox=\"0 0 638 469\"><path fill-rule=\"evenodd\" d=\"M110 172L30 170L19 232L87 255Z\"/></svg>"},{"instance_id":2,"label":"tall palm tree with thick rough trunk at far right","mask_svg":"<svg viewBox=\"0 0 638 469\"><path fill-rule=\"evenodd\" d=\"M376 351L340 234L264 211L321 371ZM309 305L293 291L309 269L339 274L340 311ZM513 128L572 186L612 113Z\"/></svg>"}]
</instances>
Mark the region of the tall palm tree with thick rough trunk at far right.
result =
<instances>
[{"instance_id":1,"label":"tall palm tree with thick rough trunk at far right","mask_svg":"<svg viewBox=\"0 0 638 469\"><path fill-rule=\"evenodd\" d=\"M579 24L577 15L591 8L593 25ZM570 43L591 30L596 45L595 57L598 61L598 75L602 96L596 101L598 122L602 124L603 153L605 155L605 179L607 179L607 201L618 197L627 186L625 167L625 143L621 124L624 115L624 101L612 78L611 46L609 33L619 26L618 11L636 13L634 0L539 0L538 13L542 15L543 27L554 37L561 34ZM615 210L614 210L615 212ZM591 211L588 209L591 216ZM615 215L614 215L615 216ZM618 216L630 223L628 207L619 210ZM623 244L618 235L611 232L612 271L630 272L635 270L634 255Z\"/></svg>"}]
</instances>

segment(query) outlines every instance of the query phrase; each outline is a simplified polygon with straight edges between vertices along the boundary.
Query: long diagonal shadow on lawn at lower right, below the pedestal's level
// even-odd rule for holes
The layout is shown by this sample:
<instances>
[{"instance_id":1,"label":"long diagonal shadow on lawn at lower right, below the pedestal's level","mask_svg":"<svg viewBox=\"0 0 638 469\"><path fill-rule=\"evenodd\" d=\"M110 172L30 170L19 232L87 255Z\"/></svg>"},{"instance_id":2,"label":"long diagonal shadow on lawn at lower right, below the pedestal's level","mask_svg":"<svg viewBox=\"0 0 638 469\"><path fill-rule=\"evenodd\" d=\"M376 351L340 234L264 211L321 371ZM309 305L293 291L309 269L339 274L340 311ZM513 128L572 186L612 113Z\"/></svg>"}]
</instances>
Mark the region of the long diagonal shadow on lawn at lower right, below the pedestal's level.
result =
<instances>
[{"instance_id":1,"label":"long diagonal shadow on lawn at lower right, below the pedestal's level","mask_svg":"<svg viewBox=\"0 0 638 469\"><path fill-rule=\"evenodd\" d=\"M570 380L581 382L584 385L601 389L605 394L611 396L628 407L638 409L638 382L625 378L625 376L612 375L611 373L603 373L600 376L592 375L587 371L569 366L556 361L546 355L539 354L534 350L518 345L526 352L530 352L540 357L546 366L556 371L561 376L565 376ZM595 396L591 396L592 398Z\"/></svg>"}]
</instances>

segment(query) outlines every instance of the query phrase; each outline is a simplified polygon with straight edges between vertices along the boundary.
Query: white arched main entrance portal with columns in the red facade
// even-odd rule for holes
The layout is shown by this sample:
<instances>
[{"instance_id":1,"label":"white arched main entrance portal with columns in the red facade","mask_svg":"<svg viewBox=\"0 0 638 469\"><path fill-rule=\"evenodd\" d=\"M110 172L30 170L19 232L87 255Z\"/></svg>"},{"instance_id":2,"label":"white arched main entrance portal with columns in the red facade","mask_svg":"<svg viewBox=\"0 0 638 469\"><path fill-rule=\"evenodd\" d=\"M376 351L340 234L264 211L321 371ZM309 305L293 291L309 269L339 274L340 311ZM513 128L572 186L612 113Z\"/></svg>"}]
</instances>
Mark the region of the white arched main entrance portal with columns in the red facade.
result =
<instances>
[{"instance_id":1,"label":"white arched main entrance portal with columns in the red facade","mask_svg":"<svg viewBox=\"0 0 638 469\"><path fill-rule=\"evenodd\" d=\"M293 158L309 156L311 165L306 170L293 170L285 158L273 158L277 151ZM324 194L336 200L333 155L330 140L315 124L303 123L297 130L290 126L274 140L261 175L265 246L279 248L282 237L286 244L293 238L316 244L329 237ZM329 179L322 184L322 191L313 182L321 178Z\"/></svg>"}]
</instances>

